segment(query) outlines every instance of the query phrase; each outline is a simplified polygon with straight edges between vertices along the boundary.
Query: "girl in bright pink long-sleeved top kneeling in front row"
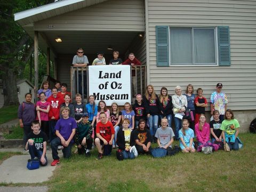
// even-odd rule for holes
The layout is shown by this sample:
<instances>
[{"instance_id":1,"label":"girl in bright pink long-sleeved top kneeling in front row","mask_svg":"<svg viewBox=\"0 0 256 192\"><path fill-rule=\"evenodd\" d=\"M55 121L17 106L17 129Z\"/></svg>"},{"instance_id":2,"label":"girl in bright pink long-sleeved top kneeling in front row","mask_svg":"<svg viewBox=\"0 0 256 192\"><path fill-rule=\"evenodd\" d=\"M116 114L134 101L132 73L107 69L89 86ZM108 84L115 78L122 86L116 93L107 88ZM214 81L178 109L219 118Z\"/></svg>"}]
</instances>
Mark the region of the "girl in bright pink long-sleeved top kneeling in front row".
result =
<instances>
[{"instance_id":1,"label":"girl in bright pink long-sleeved top kneeling in front row","mask_svg":"<svg viewBox=\"0 0 256 192\"><path fill-rule=\"evenodd\" d=\"M210 124L205 121L205 115L201 114L199 116L199 122L195 125L196 140L199 146L210 142Z\"/></svg>"}]
</instances>

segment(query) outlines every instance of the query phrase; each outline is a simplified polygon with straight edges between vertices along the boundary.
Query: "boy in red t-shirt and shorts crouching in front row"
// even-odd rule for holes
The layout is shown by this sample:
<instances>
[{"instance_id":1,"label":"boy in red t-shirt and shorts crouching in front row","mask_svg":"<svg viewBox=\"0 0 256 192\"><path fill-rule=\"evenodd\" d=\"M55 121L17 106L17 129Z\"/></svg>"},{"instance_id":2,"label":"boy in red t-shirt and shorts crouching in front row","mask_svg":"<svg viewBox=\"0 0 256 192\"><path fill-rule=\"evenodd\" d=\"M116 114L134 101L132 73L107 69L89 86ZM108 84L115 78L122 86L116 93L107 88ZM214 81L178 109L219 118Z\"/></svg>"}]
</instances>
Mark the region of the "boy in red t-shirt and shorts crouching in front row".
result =
<instances>
[{"instance_id":1,"label":"boy in red t-shirt and shorts crouching in front row","mask_svg":"<svg viewBox=\"0 0 256 192\"><path fill-rule=\"evenodd\" d=\"M107 121L107 115L105 114L105 112L101 112L99 118L100 122L98 122L96 125L97 138L95 138L95 145L97 146L99 152L99 155L96 158L97 160L103 158L103 151L104 155L111 154L112 143L115 137L114 126L111 122ZM103 151L102 147L104 149Z\"/></svg>"}]
</instances>

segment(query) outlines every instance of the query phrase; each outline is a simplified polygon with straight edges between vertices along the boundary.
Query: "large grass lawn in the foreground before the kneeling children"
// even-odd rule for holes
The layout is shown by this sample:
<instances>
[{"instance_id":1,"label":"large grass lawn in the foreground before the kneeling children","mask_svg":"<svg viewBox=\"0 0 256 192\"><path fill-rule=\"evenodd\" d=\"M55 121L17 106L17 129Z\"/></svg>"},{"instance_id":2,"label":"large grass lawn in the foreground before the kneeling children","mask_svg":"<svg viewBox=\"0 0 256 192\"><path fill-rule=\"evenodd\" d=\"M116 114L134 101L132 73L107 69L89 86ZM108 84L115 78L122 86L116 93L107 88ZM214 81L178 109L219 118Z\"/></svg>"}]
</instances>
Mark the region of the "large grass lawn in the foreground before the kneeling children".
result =
<instances>
[{"instance_id":1,"label":"large grass lawn in the foreground before the kneeling children","mask_svg":"<svg viewBox=\"0 0 256 192\"><path fill-rule=\"evenodd\" d=\"M92 156L60 159L50 191L255 191L256 135L241 133L244 148L211 155L182 154L153 158L141 155L117 161L111 156L97 161Z\"/></svg>"}]
</instances>

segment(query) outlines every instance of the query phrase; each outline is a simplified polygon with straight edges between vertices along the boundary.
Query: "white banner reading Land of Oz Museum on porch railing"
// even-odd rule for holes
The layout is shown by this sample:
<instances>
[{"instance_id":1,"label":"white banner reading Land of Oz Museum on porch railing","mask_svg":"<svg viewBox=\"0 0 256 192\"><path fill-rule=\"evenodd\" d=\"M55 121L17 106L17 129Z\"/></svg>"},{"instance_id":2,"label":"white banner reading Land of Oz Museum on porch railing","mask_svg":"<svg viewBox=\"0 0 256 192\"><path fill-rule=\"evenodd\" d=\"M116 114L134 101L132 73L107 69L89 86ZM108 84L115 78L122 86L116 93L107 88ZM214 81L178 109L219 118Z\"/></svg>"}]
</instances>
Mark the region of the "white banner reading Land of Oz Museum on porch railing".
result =
<instances>
[{"instance_id":1,"label":"white banner reading Land of Oz Museum on porch railing","mask_svg":"<svg viewBox=\"0 0 256 192\"><path fill-rule=\"evenodd\" d=\"M89 95L111 106L131 103L131 69L125 65L89 66Z\"/></svg>"}]
</instances>

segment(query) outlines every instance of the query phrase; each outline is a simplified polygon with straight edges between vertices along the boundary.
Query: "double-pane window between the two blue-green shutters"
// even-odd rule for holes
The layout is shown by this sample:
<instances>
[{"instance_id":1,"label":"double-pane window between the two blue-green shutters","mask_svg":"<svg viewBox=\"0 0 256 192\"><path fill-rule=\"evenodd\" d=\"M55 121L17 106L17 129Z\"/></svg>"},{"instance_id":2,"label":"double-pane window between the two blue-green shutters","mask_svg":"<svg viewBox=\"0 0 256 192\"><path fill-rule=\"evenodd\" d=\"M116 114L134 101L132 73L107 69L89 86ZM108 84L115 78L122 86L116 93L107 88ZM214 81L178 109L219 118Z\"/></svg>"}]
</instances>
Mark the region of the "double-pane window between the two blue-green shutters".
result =
<instances>
[{"instance_id":1,"label":"double-pane window between the two blue-green shutters","mask_svg":"<svg viewBox=\"0 0 256 192\"><path fill-rule=\"evenodd\" d=\"M171 65L217 65L216 28L170 28Z\"/></svg>"}]
</instances>

